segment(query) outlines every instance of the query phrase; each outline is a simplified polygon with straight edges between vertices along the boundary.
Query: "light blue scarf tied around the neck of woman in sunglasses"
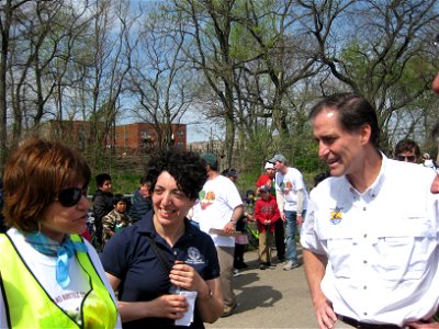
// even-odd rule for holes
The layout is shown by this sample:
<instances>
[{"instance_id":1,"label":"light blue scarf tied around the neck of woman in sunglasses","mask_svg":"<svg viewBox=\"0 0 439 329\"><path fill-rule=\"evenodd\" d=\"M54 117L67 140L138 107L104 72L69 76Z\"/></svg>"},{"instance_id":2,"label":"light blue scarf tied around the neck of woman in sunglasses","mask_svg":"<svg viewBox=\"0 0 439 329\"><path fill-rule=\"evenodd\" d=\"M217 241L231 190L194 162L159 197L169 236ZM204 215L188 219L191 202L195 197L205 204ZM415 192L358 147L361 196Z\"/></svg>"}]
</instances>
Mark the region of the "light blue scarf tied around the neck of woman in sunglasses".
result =
<instances>
[{"instance_id":1,"label":"light blue scarf tied around the neck of woman in sunglasses","mask_svg":"<svg viewBox=\"0 0 439 329\"><path fill-rule=\"evenodd\" d=\"M87 252L87 246L83 242L74 242L69 235L66 235L64 241L59 245L42 232L26 234L25 240L35 250L41 253L57 257L56 260L56 282L65 288L70 283L69 260L75 252Z\"/></svg>"}]
</instances>

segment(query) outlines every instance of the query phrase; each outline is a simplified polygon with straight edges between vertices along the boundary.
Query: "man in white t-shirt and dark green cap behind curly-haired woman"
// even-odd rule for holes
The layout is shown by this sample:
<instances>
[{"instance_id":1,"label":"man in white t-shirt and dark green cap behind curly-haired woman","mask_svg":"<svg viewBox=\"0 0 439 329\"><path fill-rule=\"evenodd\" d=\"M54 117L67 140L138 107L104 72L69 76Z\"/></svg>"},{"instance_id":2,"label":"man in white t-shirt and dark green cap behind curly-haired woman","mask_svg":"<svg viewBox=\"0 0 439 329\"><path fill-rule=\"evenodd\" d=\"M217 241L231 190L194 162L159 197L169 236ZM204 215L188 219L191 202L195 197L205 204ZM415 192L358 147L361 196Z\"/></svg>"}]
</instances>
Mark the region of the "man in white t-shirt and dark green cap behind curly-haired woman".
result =
<instances>
[{"instance_id":1,"label":"man in white t-shirt and dark green cap behind curly-haired woman","mask_svg":"<svg viewBox=\"0 0 439 329\"><path fill-rule=\"evenodd\" d=\"M236 295L233 292L235 251L233 234L237 220L244 214L243 200L235 184L219 174L216 156L207 152L202 154L201 157L206 162L207 181L193 207L192 220L200 225L201 230L210 234L215 243L223 286L223 316L229 316L237 306Z\"/></svg>"}]
</instances>

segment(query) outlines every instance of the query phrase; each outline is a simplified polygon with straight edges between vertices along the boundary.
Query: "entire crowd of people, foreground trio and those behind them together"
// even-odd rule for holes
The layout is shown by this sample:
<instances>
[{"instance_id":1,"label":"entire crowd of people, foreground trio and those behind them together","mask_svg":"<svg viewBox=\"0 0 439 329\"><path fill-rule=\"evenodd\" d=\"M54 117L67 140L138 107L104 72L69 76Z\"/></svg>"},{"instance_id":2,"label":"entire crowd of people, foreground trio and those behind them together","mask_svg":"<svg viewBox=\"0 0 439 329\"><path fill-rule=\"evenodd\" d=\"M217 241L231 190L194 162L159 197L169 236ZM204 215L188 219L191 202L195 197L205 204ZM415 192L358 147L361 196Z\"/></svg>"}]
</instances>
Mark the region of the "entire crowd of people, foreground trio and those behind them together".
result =
<instances>
[{"instance_id":1,"label":"entire crowd of people, foreground trio and those behind them together","mask_svg":"<svg viewBox=\"0 0 439 329\"><path fill-rule=\"evenodd\" d=\"M131 198L95 175L91 216L83 157L22 143L0 185L0 328L204 328L238 306L250 223L261 271L301 266L300 236L319 328L439 328L437 163L410 139L384 155L359 94L322 99L309 121L328 167L309 193L280 152L241 197L214 154L168 149Z\"/></svg>"}]
</instances>

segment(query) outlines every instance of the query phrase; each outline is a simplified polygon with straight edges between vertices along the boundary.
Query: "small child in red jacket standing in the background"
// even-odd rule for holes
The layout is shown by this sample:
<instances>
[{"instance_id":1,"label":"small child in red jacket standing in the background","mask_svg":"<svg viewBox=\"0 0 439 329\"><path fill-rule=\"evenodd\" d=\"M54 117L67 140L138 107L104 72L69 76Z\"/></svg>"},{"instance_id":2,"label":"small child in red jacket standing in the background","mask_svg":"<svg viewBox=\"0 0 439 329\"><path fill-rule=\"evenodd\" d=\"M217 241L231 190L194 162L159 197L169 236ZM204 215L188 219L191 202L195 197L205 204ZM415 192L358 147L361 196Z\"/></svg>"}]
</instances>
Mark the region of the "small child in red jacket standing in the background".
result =
<instances>
[{"instance_id":1,"label":"small child in red jacket standing in the background","mask_svg":"<svg viewBox=\"0 0 439 329\"><path fill-rule=\"evenodd\" d=\"M255 218L259 231L259 269L266 270L271 266L274 224L280 214L271 188L262 185L259 192L261 197L256 202Z\"/></svg>"}]
</instances>

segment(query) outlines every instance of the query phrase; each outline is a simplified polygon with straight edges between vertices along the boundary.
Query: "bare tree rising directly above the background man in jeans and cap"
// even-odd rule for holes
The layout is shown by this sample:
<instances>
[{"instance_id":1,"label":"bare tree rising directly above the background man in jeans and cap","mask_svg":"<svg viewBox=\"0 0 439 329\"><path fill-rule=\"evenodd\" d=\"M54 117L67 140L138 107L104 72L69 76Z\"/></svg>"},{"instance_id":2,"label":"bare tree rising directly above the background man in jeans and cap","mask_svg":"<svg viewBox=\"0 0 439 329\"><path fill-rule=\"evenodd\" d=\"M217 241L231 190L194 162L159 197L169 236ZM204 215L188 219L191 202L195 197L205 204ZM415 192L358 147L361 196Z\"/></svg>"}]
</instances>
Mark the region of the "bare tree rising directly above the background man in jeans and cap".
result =
<instances>
[{"instance_id":1,"label":"bare tree rising directly above the background man in jeans and cap","mask_svg":"<svg viewBox=\"0 0 439 329\"><path fill-rule=\"evenodd\" d=\"M297 24L294 1L246 1L241 23L256 42L258 66L251 75L266 76L272 83L272 92L264 88L257 91L259 101L272 113L275 128L282 137L290 134L288 116L296 109L285 102L288 93L300 81L314 77L320 65L316 65L315 52L309 47ZM264 94L262 99L260 95ZM286 140L285 140L286 141Z\"/></svg>"}]
</instances>

